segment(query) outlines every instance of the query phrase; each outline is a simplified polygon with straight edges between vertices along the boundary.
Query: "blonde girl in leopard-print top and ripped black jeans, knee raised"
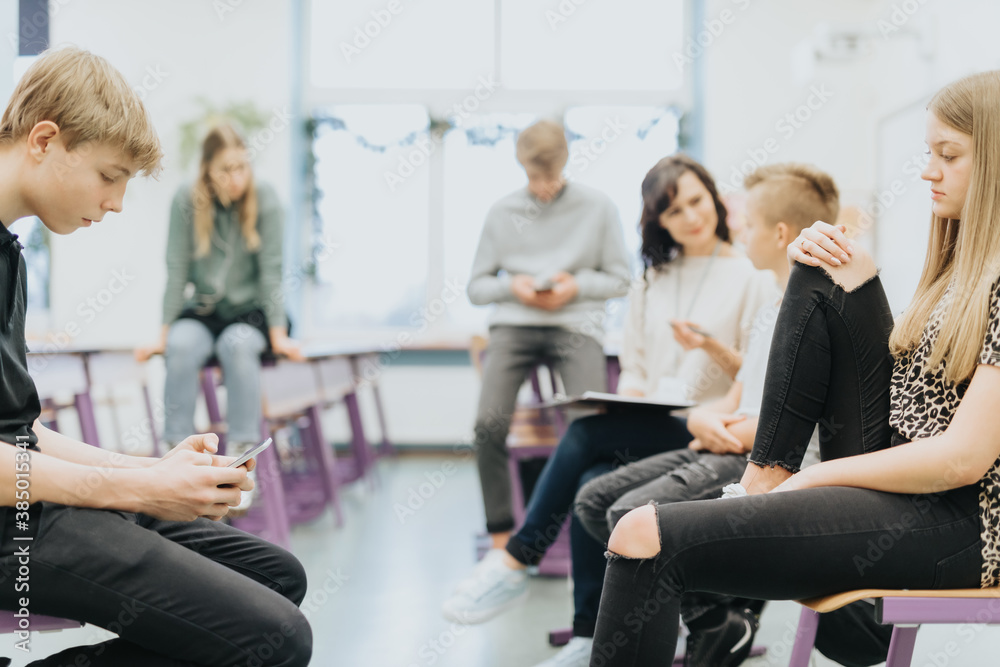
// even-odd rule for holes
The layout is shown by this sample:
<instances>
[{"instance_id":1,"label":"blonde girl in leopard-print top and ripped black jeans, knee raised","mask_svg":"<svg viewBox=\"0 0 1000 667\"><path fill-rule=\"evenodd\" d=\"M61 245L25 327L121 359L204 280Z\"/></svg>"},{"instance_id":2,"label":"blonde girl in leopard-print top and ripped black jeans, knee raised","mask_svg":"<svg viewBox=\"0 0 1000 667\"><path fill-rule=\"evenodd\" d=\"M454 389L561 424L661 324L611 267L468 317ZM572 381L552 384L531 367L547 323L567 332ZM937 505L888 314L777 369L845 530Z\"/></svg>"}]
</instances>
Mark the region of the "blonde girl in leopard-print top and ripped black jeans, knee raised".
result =
<instances>
[{"instance_id":1,"label":"blonde girl in leopard-print top and ripped black jeans, knee raised","mask_svg":"<svg viewBox=\"0 0 1000 667\"><path fill-rule=\"evenodd\" d=\"M1000 584L1000 72L939 91L926 141L931 235L910 307L894 327L843 227L800 234L742 484L622 518L592 665L662 664L688 591ZM823 462L799 471L817 424Z\"/></svg>"}]
</instances>

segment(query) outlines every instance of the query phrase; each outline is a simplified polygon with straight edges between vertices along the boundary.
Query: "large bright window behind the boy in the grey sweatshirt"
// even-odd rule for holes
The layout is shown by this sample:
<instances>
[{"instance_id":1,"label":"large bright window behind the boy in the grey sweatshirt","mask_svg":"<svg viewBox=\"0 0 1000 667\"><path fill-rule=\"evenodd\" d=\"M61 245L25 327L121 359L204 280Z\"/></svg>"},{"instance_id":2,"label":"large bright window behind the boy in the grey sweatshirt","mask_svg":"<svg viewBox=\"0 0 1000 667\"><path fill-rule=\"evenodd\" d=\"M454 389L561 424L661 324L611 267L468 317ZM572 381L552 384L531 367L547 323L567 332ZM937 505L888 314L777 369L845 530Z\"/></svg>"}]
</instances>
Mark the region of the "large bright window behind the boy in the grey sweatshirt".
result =
<instances>
[{"instance_id":1,"label":"large bright window behind the boy in the grey sweatshirt","mask_svg":"<svg viewBox=\"0 0 1000 667\"><path fill-rule=\"evenodd\" d=\"M525 183L514 145L539 117L563 121L568 177L612 197L638 267L639 187L677 150L689 96L672 58L685 1L310 7L313 229L335 247L304 286L303 335L464 344L482 331L490 308L469 304L469 271L487 210Z\"/></svg>"}]
</instances>

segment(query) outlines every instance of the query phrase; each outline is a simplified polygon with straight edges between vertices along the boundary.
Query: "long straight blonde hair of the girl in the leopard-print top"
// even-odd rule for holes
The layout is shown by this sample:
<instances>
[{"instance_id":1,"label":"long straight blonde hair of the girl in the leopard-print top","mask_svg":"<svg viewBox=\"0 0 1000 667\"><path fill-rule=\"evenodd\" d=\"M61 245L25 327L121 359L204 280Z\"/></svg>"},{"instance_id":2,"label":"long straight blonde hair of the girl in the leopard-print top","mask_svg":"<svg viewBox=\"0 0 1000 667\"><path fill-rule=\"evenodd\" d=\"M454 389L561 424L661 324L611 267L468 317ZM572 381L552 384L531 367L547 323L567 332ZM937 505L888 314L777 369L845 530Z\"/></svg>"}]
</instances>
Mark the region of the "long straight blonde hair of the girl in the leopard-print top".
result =
<instances>
[{"instance_id":1,"label":"long straight blonde hair of the girl in the leopard-print top","mask_svg":"<svg viewBox=\"0 0 1000 667\"><path fill-rule=\"evenodd\" d=\"M934 308L953 283L952 299L933 343L929 365L945 359L955 383L976 370L1000 273L1000 71L960 79L927 108L942 123L972 137L972 170L961 218L931 215L927 258L917 291L889 338L900 355L920 343Z\"/></svg>"}]
</instances>

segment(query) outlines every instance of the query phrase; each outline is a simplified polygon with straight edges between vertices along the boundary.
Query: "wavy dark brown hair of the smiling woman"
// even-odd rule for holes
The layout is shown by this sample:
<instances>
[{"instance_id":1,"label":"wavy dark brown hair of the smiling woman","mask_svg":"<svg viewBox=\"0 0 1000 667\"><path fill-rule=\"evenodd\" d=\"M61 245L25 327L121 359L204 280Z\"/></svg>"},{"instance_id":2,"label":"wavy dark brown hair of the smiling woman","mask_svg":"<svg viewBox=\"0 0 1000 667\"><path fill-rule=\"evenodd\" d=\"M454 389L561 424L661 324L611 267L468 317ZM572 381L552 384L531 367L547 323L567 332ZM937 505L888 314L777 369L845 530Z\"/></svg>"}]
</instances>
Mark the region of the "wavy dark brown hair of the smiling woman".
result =
<instances>
[{"instance_id":1,"label":"wavy dark brown hair of the smiling woman","mask_svg":"<svg viewBox=\"0 0 1000 667\"><path fill-rule=\"evenodd\" d=\"M642 216L639 218L639 233L642 247L639 255L646 267L657 268L674 259L680 252L680 244L660 225L663 214L677 196L677 181L691 172L712 195L719 222L715 235L729 241L729 226L726 224L726 206L719 199L715 181L705 167L683 153L670 155L657 162L642 179Z\"/></svg>"}]
</instances>

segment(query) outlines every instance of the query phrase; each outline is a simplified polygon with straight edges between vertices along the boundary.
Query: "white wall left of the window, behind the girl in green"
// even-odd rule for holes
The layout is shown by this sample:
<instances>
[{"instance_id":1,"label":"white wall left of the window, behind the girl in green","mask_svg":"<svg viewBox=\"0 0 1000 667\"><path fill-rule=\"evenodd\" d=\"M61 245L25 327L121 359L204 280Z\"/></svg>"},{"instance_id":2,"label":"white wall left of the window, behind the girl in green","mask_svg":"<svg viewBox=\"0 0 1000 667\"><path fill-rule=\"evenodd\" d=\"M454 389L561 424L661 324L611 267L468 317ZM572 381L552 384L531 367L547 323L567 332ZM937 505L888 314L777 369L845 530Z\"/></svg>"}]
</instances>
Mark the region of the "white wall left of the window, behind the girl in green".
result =
<instances>
[{"instance_id":1,"label":"white wall left of the window, behind the girl in green","mask_svg":"<svg viewBox=\"0 0 1000 667\"><path fill-rule=\"evenodd\" d=\"M56 5L52 44L73 43L99 53L140 88L166 153L158 181L140 178L129 185L121 214L53 241L49 326L64 331L76 324L80 333L73 346L131 346L157 335L170 200L194 175L193 164L180 164L180 126L201 115L199 98L216 106L251 101L266 113L290 107L289 5L285 0ZM286 206L291 131L288 126L277 133L255 161L258 178L271 182ZM113 295L103 290L115 271L129 282Z\"/></svg>"}]
</instances>

